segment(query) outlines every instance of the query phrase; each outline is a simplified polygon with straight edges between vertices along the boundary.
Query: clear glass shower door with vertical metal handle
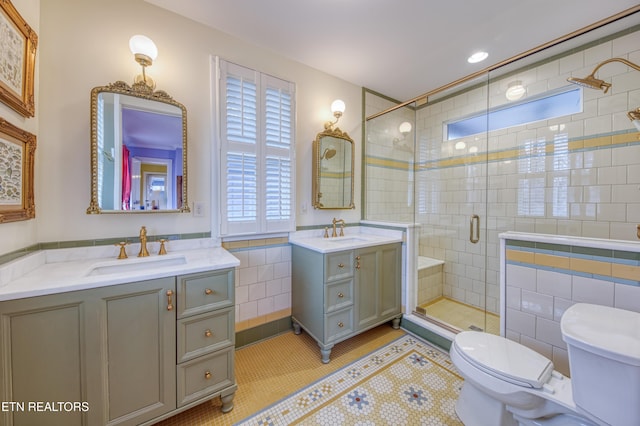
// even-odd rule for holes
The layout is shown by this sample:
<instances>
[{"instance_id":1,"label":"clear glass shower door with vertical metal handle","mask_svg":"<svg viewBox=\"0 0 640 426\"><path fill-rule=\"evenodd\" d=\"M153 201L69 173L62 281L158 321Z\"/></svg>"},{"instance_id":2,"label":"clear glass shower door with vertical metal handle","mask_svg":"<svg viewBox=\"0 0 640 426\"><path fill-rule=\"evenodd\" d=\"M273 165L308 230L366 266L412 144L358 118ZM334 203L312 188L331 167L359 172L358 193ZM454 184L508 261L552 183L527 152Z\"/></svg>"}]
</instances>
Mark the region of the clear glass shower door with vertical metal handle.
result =
<instances>
[{"instance_id":1,"label":"clear glass shower door with vertical metal handle","mask_svg":"<svg viewBox=\"0 0 640 426\"><path fill-rule=\"evenodd\" d=\"M487 85L479 85L464 96L482 104L486 93ZM497 286L487 286L487 137L450 136L456 112L453 108L451 118L443 120L440 112L447 104L456 103L434 99L416 111L416 122L425 123L417 129L416 144L416 312L452 331L498 334L498 316L487 314L498 312L499 298Z\"/></svg>"}]
</instances>

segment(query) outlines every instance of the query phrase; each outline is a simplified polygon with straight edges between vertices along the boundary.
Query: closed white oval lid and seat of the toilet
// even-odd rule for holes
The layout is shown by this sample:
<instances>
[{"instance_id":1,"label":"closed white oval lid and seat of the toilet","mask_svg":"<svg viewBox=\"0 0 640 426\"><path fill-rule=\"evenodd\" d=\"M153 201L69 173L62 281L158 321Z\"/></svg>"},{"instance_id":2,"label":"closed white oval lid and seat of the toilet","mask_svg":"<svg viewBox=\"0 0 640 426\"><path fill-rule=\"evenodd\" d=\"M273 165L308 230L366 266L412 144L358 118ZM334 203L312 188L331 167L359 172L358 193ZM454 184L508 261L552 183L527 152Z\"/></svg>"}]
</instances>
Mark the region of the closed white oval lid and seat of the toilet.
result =
<instances>
[{"instance_id":1,"label":"closed white oval lid and seat of the toilet","mask_svg":"<svg viewBox=\"0 0 640 426\"><path fill-rule=\"evenodd\" d=\"M494 334L463 331L456 335L454 345L477 368L519 386L541 388L553 372L548 358Z\"/></svg>"}]
</instances>

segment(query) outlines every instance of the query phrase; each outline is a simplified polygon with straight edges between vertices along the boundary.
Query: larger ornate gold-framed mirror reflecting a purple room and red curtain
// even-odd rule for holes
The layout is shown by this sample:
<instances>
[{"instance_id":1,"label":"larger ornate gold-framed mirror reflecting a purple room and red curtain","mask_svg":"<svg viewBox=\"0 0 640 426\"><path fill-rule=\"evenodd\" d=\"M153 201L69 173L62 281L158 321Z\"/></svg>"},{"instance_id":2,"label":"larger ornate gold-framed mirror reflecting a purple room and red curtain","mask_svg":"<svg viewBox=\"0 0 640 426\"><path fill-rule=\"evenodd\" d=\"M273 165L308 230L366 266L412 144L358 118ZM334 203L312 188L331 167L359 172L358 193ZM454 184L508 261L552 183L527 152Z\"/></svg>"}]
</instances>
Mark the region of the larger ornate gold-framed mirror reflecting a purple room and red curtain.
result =
<instances>
[{"instance_id":1,"label":"larger ornate gold-framed mirror reflecting a purple room and red curtain","mask_svg":"<svg viewBox=\"0 0 640 426\"><path fill-rule=\"evenodd\" d=\"M94 87L87 214L189 211L185 106L144 82Z\"/></svg>"}]
</instances>

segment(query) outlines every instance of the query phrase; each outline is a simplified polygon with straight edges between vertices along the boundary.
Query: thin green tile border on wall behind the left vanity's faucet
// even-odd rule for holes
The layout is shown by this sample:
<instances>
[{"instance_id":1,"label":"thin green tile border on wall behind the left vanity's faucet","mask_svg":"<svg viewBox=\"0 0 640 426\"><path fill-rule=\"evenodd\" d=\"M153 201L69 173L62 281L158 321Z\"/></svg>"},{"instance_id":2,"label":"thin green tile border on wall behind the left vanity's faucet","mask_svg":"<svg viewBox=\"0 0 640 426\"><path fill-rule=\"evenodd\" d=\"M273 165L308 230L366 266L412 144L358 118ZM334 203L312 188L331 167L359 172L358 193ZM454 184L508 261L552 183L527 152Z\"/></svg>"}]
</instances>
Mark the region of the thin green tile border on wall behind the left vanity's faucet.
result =
<instances>
[{"instance_id":1,"label":"thin green tile border on wall behind the left vanity's faucet","mask_svg":"<svg viewBox=\"0 0 640 426\"><path fill-rule=\"evenodd\" d=\"M155 241L160 238L167 240L191 240L198 238L211 238L211 232L194 232L189 234L162 234L162 235L149 235L149 241ZM104 238L95 240L76 240L76 241L54 241L48 243L34 244L10 253L6 253L0 256L0 265L11 262L22 256L26 256L30 253L34 253L40 250L54 250L59 248L81 248L81 247L96 247L96 246L108 246L117 244L120 241L129 241L137 243L140 237L138 235L133 237L119 237L119 238Z\"/></svg>"}]
</instances>

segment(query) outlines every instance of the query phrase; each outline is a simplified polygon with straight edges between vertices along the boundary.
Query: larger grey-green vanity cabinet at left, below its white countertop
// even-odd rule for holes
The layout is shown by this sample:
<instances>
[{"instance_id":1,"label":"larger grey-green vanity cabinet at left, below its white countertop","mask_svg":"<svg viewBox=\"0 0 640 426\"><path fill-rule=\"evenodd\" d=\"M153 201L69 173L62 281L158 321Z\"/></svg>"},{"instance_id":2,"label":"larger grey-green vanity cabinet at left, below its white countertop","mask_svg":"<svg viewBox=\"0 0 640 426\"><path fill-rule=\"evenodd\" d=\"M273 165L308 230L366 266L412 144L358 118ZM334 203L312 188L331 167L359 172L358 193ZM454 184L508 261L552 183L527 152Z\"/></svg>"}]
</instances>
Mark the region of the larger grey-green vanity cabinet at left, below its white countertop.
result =
<instances>
[{"instance_id":1,"label":"larger grey-green vanity cabinet at left, below its white countertop","mask_svg":"<svg viewBox=\"0 0 640 426\"><path fill-rule=\"evenodd\" d=\"M233 284L231 268L0 302L0 401L24 403L0 424L153 424L217 396L231 410Z\"/></svg>"}]
</instances>

